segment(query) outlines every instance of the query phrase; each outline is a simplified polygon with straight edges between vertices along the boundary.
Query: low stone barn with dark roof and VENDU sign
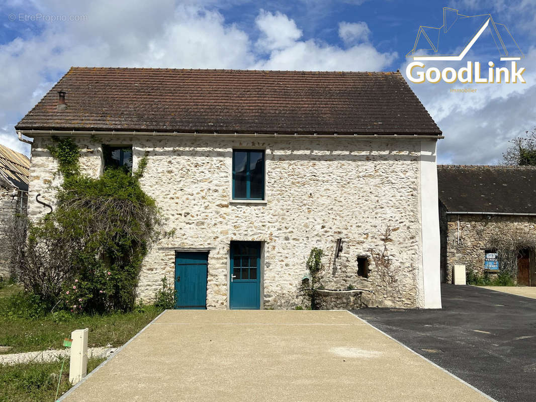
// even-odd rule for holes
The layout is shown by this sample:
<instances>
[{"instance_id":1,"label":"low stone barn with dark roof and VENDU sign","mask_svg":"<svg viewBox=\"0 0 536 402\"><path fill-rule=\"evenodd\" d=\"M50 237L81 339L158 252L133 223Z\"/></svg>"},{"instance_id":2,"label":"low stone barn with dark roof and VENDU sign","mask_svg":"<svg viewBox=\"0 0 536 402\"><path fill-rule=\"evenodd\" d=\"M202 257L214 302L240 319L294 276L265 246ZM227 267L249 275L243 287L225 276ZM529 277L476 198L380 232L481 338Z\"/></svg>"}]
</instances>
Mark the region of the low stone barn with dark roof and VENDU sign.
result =
<instances>
[{"instance_id":1,"label":"low stone barn with dark roof and VENDU sign","mask_svg":"<svg viewBox=\"0 0 536 402\"><path fill-rule=\"evenodd\" d=\"M440 165L437 175L444 282L455 264L497 272L490 244L497 233L526 230L536 239L536 167ZM517 281L536 286L534 250L519 255Z\"/></svg>"}]
</instances>

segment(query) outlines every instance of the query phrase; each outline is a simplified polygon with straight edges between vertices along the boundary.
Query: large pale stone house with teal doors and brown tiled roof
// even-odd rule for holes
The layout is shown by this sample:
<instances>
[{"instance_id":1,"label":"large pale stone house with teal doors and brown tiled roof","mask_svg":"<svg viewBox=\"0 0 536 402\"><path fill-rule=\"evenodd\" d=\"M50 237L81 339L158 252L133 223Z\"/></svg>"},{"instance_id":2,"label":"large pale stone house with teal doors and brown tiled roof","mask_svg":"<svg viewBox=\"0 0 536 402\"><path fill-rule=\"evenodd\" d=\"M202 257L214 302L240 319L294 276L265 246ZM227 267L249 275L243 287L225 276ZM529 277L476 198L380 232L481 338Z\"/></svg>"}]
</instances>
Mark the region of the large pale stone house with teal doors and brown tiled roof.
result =
<instances>
[{"instance_id":1,"label":"large pale stone house with teal doors and brown tiled roof","mask_svg":"<svg viewBox=\"0 0 536 402\"><path fill-rule=\"evenodd\" d=\"M71 68L16 129L34 139L33 219L48 211L35 194L54 205L61 180L51 136L75 139L94 177L147 157L141 184L173 235L146 257L140 299L166 275L178 308L303 306L318 247L326 289L441 307L441 131L398 72Z\"/></svg>"}]
</instances>

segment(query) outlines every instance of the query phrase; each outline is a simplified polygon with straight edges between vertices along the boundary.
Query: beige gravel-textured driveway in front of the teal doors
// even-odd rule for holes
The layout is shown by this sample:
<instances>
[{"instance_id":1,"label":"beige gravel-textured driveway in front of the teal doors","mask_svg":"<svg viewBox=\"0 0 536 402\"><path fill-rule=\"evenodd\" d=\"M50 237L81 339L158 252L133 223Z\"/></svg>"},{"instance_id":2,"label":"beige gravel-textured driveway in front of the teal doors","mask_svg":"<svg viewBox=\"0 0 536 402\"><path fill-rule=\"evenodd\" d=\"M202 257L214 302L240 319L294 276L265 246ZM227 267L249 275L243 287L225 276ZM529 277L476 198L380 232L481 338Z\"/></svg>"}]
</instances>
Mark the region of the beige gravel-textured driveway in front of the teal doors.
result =
<instances>
[{"instance_id":1,"label":"beige gravel-textured driveway in front of the teal doors","mask_svg":"<svg viewBox=\"0 0 536 402\"><path fill-rule=\"evenodd\" d=\"M348 311L168 310L61 400L489 398Z\"/></svg>"}]
</instances>

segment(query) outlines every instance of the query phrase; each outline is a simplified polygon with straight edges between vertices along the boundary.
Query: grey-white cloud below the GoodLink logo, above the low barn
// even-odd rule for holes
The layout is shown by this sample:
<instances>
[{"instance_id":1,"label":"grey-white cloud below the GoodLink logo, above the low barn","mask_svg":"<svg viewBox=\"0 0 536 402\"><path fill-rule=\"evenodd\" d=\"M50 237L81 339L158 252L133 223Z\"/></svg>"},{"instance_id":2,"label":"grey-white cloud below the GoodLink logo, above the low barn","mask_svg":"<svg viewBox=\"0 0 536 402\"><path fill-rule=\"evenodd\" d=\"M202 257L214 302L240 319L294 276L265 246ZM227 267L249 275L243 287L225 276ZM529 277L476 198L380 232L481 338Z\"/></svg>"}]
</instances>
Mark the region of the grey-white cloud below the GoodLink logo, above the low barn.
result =
<instances>
[{"instance_id":1,"label":"grey-white cloud below the GoodLink logo, above the low barn","mask_svg":"<svg viewBox=\"0 0 536 402\"><path fill-rule=\"evenodd\" d=\"M405 76L408 60L401 68ZM459 66L465 65L460 62ZM429 63L440 70L452 63ZM513 137L536 126L536 48L519 62L526 84L408 84L443 131L438 161L468 165L500 162ZM457 68L456 65L452 65ZM474 93L451 93L473 88Z\"/></svg>"}]
</instances>

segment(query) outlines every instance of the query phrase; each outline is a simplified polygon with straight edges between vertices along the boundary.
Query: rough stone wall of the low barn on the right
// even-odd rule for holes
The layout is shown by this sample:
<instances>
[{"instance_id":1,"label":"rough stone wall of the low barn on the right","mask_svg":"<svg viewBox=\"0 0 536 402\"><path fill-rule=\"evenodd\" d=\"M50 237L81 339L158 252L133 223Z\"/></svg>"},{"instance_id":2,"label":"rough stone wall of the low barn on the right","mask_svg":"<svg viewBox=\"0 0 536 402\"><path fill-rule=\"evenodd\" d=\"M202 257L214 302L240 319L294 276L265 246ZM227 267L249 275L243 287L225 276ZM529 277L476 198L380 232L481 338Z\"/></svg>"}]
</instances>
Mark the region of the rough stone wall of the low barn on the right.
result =
<instances>
[{"instance_id":1,"label":"rough stone wall of the low barn on the right","mask_svg":"<svg viewBox=\"0 0 536 402\"><path fill-rule=\"evenodd\" d=\"M444 231L442 243L445 256L442 270L445 281L452 283L455 264L465 265L466 270L484 272L484 252L490 249L489 239L493 234L509 228L523 227L536 236L536 217L522 215L454 215L442 214ZM458 230L459 221L459 230ZM531 270L532 271L532 270Z\"/></svg>"}]
</instances>

